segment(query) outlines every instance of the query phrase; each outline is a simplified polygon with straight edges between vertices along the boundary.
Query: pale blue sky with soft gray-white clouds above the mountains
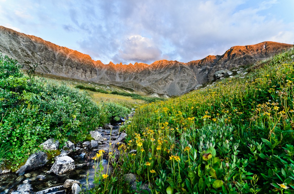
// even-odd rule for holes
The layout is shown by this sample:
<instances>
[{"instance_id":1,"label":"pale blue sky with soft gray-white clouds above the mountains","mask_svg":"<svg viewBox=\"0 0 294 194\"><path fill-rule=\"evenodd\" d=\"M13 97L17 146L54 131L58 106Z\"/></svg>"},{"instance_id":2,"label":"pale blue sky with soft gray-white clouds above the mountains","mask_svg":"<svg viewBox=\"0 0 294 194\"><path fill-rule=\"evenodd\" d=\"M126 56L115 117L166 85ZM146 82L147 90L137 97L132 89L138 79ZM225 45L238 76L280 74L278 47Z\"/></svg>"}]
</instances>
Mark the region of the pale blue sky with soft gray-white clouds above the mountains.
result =
<instances>
[{"instance_id":1,"label":"pale blue sky with soft gray-white clouds above the mountains","mask_svg":"<svg viewBox=\"0 0 294 194\"><path fill-rule=\"evenodd\" d=\"M236 45L293 44L293 0L0 0L0 26L102 63L187 63Z\"/></svg>"}]
</instances>

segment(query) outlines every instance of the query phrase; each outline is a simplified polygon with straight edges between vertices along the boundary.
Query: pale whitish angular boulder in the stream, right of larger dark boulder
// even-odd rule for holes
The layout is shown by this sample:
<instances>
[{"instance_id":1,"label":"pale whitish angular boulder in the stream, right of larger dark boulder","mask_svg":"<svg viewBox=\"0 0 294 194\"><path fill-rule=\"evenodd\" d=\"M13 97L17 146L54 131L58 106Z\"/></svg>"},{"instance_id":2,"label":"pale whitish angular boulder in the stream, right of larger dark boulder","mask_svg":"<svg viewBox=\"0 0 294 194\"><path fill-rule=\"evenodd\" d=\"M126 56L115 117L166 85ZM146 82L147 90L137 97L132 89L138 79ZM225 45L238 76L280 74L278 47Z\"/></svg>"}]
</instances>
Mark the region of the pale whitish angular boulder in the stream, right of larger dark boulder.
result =
<instances>
[{"instance_id":1,"label":"pale whitish angular boulder in the stream, right of larger dark boulder","mask_svg":"<svg viewBox=\"0 0 294 194\"><path fill-rule=\"evenodd\" d=\"M47 173L54 173L56 175L61 175L66 173L67 171L71 171L75 169L74 160L69 156L62 156L57 158L50 171Z\"/></svg>"}]
</instances>

